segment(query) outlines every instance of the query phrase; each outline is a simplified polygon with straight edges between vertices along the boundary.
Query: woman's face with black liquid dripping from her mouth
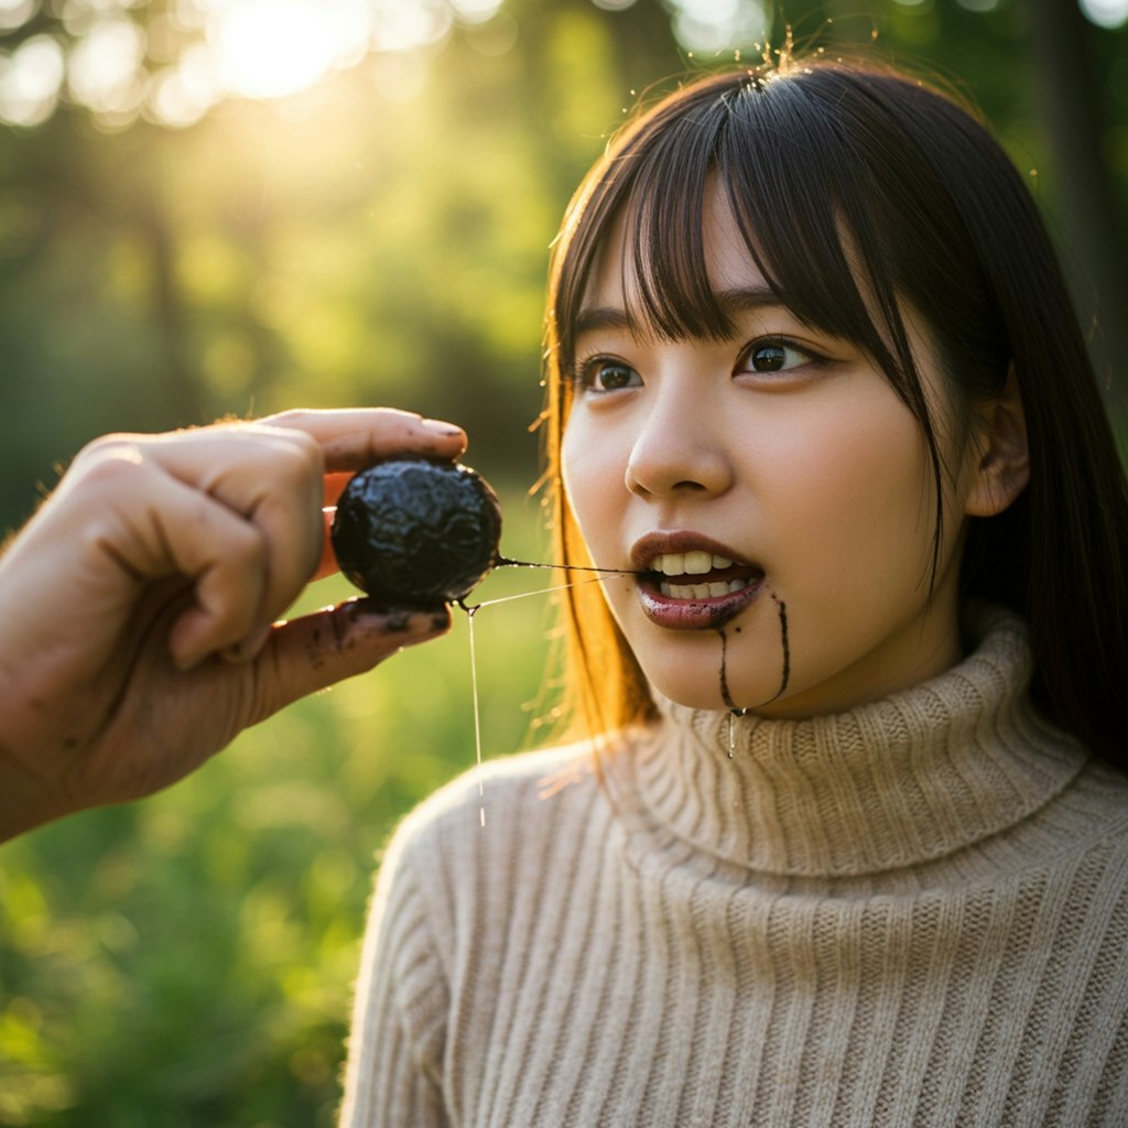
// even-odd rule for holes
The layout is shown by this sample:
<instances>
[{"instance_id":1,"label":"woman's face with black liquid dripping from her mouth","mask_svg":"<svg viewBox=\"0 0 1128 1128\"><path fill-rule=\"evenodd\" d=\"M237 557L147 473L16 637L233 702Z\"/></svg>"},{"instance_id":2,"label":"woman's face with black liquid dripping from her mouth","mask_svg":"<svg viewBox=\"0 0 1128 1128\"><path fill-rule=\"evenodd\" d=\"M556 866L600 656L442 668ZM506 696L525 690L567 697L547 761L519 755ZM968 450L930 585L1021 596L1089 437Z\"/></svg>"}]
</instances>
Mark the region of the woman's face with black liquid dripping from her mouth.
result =
<instances>
[{"instance_id":1,"label":"woman's face with black liquid dripping from her mouth","mask_svg":"<svg viewBox=\"0 0 1128 1128\"><path fill-rule=\"evenodd\" d=\"M651 684L691 706L808 716L938 673L960 656L973 453L948 464L929 592L935 487L916 420L867 355L778 303L720 193L705 228L731 338L632 335L622 224L578 320L565 490L593 563L642 570L602 581L611 613Z\"/></svg>"}]
</instances>

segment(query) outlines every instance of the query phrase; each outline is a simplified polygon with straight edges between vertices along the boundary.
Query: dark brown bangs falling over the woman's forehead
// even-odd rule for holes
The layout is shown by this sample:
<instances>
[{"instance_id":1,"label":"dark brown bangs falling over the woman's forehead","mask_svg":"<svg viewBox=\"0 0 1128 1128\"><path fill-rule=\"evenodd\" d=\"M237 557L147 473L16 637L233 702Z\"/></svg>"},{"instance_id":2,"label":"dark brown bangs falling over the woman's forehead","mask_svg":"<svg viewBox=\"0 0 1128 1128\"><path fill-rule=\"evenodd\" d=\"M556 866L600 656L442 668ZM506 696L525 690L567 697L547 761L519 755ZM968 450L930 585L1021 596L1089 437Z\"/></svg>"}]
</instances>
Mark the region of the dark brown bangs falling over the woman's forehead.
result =
<instances>
[{"instance_id":1,"label":"dark brown bangs falling over the woman's forehead","mask_svg":"<svg viewBox=\"0 0 1128 1128\"><path fill-rule=\"evenodd\" d=\"M804 324L851 341L918 417L927 407L898 307L896 271L874 222L880 186L841 108L786 76L721 76L691 106L661 107L597 166L565 227L555 294L559 369L574 365L574 325L598 253L623 224L635 333L725 338L729 312L707 273L704 217L721 187L750 259Z\"/></svg>"}]
</instances>

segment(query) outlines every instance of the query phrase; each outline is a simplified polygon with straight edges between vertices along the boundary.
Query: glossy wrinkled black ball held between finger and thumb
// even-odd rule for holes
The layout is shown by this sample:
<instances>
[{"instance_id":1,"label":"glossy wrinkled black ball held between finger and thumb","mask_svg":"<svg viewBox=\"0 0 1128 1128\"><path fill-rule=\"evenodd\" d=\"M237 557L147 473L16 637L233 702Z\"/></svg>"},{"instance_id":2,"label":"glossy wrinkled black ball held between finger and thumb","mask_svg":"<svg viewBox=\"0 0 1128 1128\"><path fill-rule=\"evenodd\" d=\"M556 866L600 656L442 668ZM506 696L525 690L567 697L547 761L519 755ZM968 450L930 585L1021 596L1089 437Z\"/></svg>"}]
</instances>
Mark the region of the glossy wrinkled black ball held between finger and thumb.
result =
<instances>
[{"instance_id":1,"label":"glossy wrinkled black ball held between finger and thumb","mask_svg":"<svg viewBox=\"0 0 1128 1128\"><path fill-rule=\"evenodd\" d=\"M501 506L467 466L400 458L361 470L333 521L341 571L381 603L425 607L469 593L493 567Z\"/></svg>"}]
</instances>

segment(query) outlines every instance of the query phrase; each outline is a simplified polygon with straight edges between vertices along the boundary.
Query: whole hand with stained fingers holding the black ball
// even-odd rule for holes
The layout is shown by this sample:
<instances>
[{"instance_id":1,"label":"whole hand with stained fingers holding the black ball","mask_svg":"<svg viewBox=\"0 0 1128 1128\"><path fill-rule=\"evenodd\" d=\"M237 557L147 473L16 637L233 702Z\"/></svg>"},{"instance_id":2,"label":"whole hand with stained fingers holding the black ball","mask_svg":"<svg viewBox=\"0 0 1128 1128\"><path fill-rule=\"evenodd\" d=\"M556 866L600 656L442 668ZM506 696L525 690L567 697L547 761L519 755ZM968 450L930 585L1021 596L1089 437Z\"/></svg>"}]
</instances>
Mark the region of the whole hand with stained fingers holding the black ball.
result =
<instances>
[{"instance_id":1,"label":"whole hand with stained fingers holding the black ball","mask_svg":"<svg viewBox=\"0 0 1128 1128\"><path fill-rule=\"evenodd\" d=\"M275 619L334 570L323 506L352 472L465 444L373 408L83 449L0 557L0 840L165 787L294 698L444 633L446 608L364 600Z\"/></svg>"}]
</instances>

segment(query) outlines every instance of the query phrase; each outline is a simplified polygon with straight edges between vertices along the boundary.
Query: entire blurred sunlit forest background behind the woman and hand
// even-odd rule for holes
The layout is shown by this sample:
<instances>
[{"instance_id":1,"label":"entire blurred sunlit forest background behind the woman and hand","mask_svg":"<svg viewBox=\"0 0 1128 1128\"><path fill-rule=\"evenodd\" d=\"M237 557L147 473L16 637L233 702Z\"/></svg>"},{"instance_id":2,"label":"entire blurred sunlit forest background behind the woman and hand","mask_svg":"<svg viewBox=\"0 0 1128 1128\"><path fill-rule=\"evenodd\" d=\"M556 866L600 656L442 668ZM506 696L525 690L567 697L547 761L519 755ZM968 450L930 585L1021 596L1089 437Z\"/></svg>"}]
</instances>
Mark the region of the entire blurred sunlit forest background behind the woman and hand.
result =
<instances>
[{"instance_id":1,"label":"entire blurred sunlit forest background behind the woman and hand","mask_svg":"<svg viewBox=\"0 0 1128 1128\"><path fill-rule=\"evenodd\" d=\"M529 425L563 208L638 98L788 27L982 107L1122 438L1126 21L1128 0L0 0L0 530L105 431L389 404L464 424L503 549L544 558ZM487 757L546 731L550 602L475 617ZM333 1122L379 851L475 763L467 627L162 795L0 848L0 1125Z\"/></svg>"}]
</instances>

